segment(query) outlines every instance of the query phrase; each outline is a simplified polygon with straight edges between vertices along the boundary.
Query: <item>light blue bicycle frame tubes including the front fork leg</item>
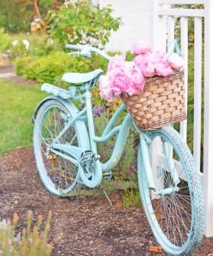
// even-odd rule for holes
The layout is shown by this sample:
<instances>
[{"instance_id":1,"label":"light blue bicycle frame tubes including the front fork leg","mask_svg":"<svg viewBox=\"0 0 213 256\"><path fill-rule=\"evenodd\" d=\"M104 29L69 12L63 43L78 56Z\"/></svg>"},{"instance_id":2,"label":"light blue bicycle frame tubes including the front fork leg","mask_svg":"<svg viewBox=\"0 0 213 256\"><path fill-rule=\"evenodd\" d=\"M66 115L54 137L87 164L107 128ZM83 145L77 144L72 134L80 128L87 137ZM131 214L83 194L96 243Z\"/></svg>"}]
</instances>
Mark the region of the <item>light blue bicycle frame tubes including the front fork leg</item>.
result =
<instances>
[{"instance_id":1,"label":"light blue bicycle frame tubes including the front fork leg","mask_svg":"<svg viewBox=\"0 0 213 256\"><path fill-rule=\"evenodd\" d=\"M97 143L106 142L112 136L118 133L116 138L116 144L115 144L114 150L112 151L110 159L106 163L101 163L103 173L109 170L112 170L114 167L116 167L116 164L120 161L122 157L122 152L127 142L130 126L135 125L133 119L131 118L131 115L128 113L123 118L122 125L117 125L116 127L112 128L115 125L116 120L119 118L119 116L122 114L124 110L125 110L125 106L123 104L119 106L119 108L113 114L112 118L110 118L110 122L106 125L102 136L97 137L95 134L95 127L94 127L93 114L92 114L91 93L88 87L85 91L85 108L80 112L78 112L71 120L69 120L66 126L64 127L64 129L60 131L60 134L58 135L58 137L53 140L53 144L52 144L53 153L59 155L60 157L65 157L66 159L68 159L74 164L78 163L78 160L76 159L80 157L82 151L75 146L71 146L67 144L59 144L58 141L66 133L66 131L71 127L71 125L73 125L78 120L87 118L90 148L96 155L98 155ZM147 136L147 132L140 131L136 125L135 125L135 129L140 133L140 138L141 138L140 147L141 147L141 151L143 152L142 153L143 163L146 165L147 181L148 181L149 187L151 189L155 189L154 182L153 182L153 175L152 175L152 167L150 166L150 163L148 161L149 153L148 153L147 144L149 143L150 139ZM63 150L65 152L72 151L72 155L74 157L70 157L70 156L68 157L66 154L63 154L58 150Z\"/></svg>"}]
</instances>

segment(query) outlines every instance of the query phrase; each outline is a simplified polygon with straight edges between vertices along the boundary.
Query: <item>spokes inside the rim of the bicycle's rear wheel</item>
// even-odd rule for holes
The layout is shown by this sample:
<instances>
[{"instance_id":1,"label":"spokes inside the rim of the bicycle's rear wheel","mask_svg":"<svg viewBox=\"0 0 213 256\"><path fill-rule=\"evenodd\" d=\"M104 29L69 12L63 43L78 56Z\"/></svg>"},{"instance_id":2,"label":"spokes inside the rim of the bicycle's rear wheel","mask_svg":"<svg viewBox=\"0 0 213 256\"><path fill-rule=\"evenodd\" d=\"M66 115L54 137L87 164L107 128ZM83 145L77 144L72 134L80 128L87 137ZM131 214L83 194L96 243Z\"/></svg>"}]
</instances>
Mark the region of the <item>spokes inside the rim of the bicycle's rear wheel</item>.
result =
<instances>
[{"instance_id":1,"label":"spokes inside the rim of the bicycle's rear wheel","mask_svg":"<svg viewBox=\"0 0 213 256\"><path fill-rule=\"evenodd\" d=\"M55 154L52 150L53 141L66 126L66 120L66 112L58 107L52 107L43 115L40 131L41 155L47 170L47 176L53 182L55 189L61 190L66 190L73 182L78 182L78 179L76 179L78 167L67 161L66 158ZM77 145L78 138L73 127L67 130L58 141L61 144ZM61 153L66 154L65 152Z\"/></svg>"}]
</instances>

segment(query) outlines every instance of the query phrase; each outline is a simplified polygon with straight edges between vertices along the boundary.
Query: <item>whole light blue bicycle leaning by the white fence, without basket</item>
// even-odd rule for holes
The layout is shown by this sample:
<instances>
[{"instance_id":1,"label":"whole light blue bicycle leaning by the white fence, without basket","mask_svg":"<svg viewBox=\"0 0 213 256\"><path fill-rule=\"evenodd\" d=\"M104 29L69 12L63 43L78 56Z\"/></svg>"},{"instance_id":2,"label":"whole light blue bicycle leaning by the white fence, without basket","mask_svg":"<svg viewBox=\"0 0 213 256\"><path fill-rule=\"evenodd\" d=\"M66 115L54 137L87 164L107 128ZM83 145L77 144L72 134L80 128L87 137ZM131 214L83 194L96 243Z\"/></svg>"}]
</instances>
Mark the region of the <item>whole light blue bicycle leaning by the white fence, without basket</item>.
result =
<instances>
[{"instance_id":1,"label":"whole light blue bicycle leaning by the white fence, without basket","mask_svg":"<svg viewBox=\"0 0 213 256\"><path fill-rule=\"evenodd\" d=\"M108 54L90 46L66 48L78 50L71 54L91 57L94 52L110 60ZM43 99L34 112L34 155L41 181L53 195L70 195L78 184L97 187L119 162L129 129L135 125L128 113L122 124L115 127L125 110L122 105L103 135L96 136L90 90L97 86L102 73L97 69L87 74L64 74L62 80L70 84L68 90L50 84L41 86L42 91L53 95ZM85 100L85 108L79 111L73 99ZM190 255L204 230L204 198L191 151L172 126L141 131L135 125L135 129L140 137L139 190L153 234L166 253ZM97 143L116 133L112 155L101 163Z\"/></svg>"}]
</instances>

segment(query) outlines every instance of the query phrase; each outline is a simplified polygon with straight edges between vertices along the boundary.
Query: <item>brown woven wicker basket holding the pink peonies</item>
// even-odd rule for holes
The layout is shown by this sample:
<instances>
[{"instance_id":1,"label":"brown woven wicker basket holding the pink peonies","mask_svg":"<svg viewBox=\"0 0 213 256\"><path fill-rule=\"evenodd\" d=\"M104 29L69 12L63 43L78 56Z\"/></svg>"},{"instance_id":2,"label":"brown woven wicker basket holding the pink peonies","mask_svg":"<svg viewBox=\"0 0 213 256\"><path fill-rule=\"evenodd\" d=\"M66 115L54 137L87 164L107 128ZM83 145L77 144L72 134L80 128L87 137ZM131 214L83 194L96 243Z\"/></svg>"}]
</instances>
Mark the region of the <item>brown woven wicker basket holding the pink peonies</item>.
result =
<instances>
[{"instance_id":1,"label":"brown woven wicker basket holding the pink peonies","mask_svg":"<svg viewBox=\"0 0 213 256\"><path fill-rule=\"evenodd\" d=\"M122 94L122 101L143 131L183 121L186 118L184 73L148 78L142 92L132 96Z\"/></svg>"}]
</instances>

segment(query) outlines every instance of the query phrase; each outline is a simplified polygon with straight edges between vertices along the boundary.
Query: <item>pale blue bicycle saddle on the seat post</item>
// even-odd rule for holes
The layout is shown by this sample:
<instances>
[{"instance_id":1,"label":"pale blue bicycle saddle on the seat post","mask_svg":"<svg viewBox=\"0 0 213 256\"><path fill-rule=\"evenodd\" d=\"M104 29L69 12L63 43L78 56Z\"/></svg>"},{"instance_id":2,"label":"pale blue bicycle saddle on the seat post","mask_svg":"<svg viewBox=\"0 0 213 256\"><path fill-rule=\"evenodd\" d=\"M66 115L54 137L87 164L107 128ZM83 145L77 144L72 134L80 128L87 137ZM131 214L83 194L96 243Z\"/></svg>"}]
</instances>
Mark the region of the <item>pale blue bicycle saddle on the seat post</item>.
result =
<instances>
[{"instance_id":1,"label":"pale blue bicycle saddle on the seat post","mask_svg":"<svg viewBox=\"0 0 213 256\"><path fill-rule=\"evenodd\" d=\"M70 84L84 84L86 82L94 80L102 73L102 69L96 69L89 73L66 73L62 76L61 80L66 81Z\"/></svg>"}]
</instances>

